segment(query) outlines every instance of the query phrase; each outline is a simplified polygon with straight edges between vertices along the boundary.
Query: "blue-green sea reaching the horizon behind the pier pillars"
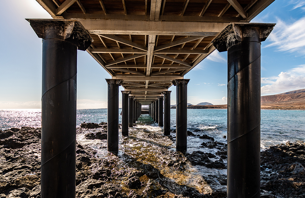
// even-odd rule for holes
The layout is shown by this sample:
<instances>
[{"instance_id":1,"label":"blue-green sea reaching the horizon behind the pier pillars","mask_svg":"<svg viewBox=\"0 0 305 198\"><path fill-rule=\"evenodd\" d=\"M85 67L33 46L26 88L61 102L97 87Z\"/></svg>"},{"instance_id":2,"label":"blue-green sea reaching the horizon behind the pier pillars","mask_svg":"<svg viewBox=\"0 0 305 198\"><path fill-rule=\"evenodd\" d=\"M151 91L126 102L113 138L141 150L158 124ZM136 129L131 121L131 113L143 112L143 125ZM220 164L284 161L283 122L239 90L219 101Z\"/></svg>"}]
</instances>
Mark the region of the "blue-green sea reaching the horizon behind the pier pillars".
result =
<instances>
[{"instance_id":1,"label":"blue-green sea reaching the horizon behind the pier pillars","mask_svg":"<svg viewBox=\"0 0 305 198\"><path fill-rule=\"evenodd\" d=\"M121 109L119 109L119 112ZM305 111L302 110L261 110L261 147L267 148L287 141L305 140ZM77 126L83 122L107 122L107 109L77 109ZM119 115L119 123L121 123ZM176 125L176 109L171 109L171 129ZM22 126L41 127L41 109L1 109L0 129ZM152 126L158 126L152 123ZM188 130L195 134L203 132L225 140L227 136L226 109L188 109ZM198 138L188 137L196 143ZM224 141L223 141L224 142Z\"/></svg>"}]
</instances>

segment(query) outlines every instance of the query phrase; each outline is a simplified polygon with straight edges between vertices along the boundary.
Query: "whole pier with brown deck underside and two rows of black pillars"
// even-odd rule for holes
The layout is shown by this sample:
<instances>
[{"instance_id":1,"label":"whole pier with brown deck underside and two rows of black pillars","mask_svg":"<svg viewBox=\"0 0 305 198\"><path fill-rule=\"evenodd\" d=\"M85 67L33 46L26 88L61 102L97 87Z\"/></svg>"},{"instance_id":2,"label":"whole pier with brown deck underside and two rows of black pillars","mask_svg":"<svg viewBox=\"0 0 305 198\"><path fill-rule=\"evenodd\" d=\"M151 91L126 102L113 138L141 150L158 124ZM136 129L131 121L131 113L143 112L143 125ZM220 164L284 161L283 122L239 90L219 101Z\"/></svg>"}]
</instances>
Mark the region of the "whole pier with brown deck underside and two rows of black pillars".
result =
<instances>
[{"instance_id":1,"label":"whole pier with brown deck underside and two rows of black pillars","mask_svg":"<svg viewBox=\"0 0 305 198\"><path fill-rule=\"evenodd\" d=\"M249 23L274 0L37 0L52 19L27 19L42 38L41 197L75 197L77 50L111 75L108 151L148 105L170 133L176 87L176 150L187 149L191 69L228 51L228 198L260 197L260 43L274 24ZM163 106L164 104L164 106ZM124 135L123 135L124 129Z\"/></svg>"}]
</instances>

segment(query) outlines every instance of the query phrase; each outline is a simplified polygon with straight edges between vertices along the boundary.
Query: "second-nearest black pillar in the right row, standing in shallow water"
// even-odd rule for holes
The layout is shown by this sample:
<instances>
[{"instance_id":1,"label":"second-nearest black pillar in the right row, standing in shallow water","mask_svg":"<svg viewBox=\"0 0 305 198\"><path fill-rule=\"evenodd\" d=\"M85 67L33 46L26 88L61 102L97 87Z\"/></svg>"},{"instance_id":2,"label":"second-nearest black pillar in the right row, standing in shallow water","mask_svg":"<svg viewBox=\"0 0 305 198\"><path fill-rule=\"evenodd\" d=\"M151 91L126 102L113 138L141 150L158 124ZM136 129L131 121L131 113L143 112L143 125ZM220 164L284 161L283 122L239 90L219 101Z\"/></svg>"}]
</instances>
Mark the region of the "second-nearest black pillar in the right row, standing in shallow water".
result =
<instances>
[{"instance_id":1,"label":"second-nearest black pillar in the right row, standing in shallow water","mask_svg":"<svg viewBox=\"0 0 305 198\"><path fill-rule=\"evenodd\" d=\"M176 150L186 150L187 147L187 102L189 79L176 79Z\"/></svg>"}]
</instances>

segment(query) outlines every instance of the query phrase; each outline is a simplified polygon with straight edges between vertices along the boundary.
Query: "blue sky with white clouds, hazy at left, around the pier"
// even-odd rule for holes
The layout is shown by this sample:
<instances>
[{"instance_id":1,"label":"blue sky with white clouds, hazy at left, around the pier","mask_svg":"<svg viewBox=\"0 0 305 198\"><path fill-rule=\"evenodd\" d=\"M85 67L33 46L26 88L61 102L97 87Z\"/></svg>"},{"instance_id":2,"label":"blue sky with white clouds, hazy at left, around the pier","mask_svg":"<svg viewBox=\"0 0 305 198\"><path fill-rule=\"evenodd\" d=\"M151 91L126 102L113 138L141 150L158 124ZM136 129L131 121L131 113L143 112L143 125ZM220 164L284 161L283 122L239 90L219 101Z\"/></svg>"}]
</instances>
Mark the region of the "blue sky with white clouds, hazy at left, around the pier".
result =
<instances>
[{"instance_id":1,"label":"blue sky with white clouds, hazy at left, around the pier","mask_svg":"<svg viewBox=\"0 0 305 198\"><path fill-rule=\"evenodd\" d=\"M35 0L0 4L0 109L41 108L42 43L25 19L51 17ZM305 0L275 0L251 22L276 23L261 45L261 94L304 89ZM216 50L188 72L188 103L227 104L227 70L227 53ZM78 109L107 108L107 78L87 52L77 51ZM176 104L176 87L169 90ZM121 107L121 94L119 100Z\"/></svg>"}]
</instances>

